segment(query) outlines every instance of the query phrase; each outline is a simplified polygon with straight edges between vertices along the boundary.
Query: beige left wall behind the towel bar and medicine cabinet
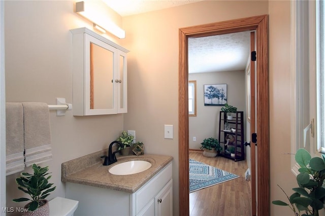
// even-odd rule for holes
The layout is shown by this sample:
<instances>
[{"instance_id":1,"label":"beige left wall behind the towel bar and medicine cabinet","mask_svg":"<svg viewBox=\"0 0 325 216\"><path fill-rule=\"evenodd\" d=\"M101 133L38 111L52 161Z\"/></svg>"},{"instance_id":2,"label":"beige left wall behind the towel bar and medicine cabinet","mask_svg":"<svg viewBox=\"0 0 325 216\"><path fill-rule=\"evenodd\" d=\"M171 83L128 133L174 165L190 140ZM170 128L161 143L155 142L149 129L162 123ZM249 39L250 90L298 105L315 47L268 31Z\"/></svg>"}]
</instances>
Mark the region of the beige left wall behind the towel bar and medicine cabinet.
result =
<instances>
[{"instance_id":1,"label":"beige left wall behind the towel bar and medicine cabinet","mask_svg":"<svg viewBox=\"0 0 325 216\"><path fill-rule=\"evenodd\" d=\"M6 101L55 104L56 97L65 97L72 103L70 29L92 28L73 8L73 1L5 2ZM65 197L61 163L107 148L123 129L123 115L74 117L68 111L57 117L50 111L50 122L53 160L41 165L49 166L57 187L49 196L52 199ZM18 176L7 176L8 207L26 204L12 202L25 196L15 184Z\"/></svg>"}]
</instances>

